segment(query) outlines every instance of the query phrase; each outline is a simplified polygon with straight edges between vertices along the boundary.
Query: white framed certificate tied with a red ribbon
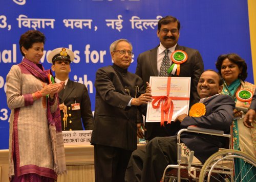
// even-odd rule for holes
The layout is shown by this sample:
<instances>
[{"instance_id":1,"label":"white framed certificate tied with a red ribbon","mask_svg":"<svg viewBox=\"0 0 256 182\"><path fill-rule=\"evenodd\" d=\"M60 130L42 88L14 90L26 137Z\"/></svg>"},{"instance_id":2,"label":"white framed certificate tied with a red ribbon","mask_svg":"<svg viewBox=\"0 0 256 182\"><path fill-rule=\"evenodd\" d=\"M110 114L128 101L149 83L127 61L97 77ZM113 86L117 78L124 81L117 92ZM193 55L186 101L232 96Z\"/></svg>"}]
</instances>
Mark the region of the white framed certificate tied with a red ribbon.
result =
<instances>
[{"instance_id":1,"label":"white framed certificate tied with a red ribbon","mask_svg":"<svg viewBox=\"0 0 256 182\"><path fill-rule=\"evenodd\" d=\"M146 122L174 121L177 116L188 114L190 77L151 76L153 100L147 103Z\"/></svg>"}]
</instances>

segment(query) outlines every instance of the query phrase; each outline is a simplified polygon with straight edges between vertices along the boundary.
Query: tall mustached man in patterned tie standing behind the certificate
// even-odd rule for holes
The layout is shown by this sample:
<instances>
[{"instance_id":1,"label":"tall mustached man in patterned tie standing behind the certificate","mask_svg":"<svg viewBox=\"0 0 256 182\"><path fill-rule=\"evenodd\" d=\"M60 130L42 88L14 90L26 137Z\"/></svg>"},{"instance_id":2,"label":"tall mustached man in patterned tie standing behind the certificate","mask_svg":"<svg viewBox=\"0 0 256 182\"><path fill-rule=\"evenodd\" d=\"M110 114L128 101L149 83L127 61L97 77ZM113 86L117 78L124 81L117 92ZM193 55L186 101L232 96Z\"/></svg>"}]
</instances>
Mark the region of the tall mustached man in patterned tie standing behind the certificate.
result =
<instances>
[{"instance_id":1,"label":"tall mustached man in patterned tie standing behind the certificate","mask_svg":"<svg viewBox=\"0 0 256 182\"><path fill-rule=\"evenodd\" d=\"M197 83L204 65L198 50L177 44L179 31L180 22L177 18L166 16L160 19L157 30L160 45L138 56L136 74L142 78L145 88L150 76L191 77L189 105L192 106L199 100ZM151 140L154 137L172 136L173 128L175 126L170 127L170 124L164 128L159 123L146 123L145 137Z\"/></svg>"}]
</instances>

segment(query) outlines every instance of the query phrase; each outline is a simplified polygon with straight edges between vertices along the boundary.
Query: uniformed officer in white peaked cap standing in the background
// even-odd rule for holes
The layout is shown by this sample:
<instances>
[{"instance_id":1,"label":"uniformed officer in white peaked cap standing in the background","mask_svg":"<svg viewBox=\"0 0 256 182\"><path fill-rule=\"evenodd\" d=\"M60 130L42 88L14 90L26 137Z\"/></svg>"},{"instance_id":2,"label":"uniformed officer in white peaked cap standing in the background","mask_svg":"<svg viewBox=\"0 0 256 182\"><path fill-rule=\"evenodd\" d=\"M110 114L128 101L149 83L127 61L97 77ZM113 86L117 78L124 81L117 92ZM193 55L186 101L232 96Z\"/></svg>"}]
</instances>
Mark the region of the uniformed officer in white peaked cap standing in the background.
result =
<instances>
[{"instance_id":1,"label":"uniformed officer in white peaked cap standing in the background","mask_svg":"<svg viewBox=\"0 0 256 182\"><path fill-rule=\"evenodd\" d=\"M83 127L86 130L93 129L93 115L88 90L85 85L69 79L70 63L74 60L73 51L63 47L56 48L51 51L47 60L52 63L55 82L65 82L65 89L58 94L62 131L83 130Z\"/></svg>"}]
</instances>

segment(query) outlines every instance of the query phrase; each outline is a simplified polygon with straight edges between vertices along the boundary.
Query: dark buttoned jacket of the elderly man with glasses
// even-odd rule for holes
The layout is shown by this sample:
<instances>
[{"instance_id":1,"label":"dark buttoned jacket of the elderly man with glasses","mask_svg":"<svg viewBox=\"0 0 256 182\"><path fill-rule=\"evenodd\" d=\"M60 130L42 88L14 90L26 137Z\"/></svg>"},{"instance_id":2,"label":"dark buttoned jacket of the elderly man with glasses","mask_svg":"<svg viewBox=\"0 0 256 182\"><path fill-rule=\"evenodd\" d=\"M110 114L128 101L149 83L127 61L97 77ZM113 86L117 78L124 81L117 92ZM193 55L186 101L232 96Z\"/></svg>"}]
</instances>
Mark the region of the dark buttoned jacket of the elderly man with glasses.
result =
<instances>
[{"instance_id":1,"label":"dark buttoned jacket of the elderly man with glasses","mask_svg":"<svg viewBox=\"0 0 256 182\"><path fill-rule=\"evenodd\" d=\"M137 148L138 107L127 107L132 97L135 98L136 86L139 86L139 93L136 95L138 98L144 90L142 79L138 75L125 72L116 65L97 70L92 144L126 150Z\"/></svg>"}]
</instances>

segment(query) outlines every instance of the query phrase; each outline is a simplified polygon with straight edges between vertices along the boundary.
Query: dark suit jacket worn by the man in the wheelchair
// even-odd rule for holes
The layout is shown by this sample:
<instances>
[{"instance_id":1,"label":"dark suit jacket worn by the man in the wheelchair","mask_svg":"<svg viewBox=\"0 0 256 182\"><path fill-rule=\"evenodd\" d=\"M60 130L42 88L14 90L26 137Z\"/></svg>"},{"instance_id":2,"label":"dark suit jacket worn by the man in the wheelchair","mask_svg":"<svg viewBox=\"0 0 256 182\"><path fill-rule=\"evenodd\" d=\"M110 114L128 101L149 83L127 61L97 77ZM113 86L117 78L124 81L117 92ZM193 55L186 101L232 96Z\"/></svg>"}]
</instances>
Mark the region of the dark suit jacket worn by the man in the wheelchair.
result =
<instances>
[{"instance_id":1,"label":"dark suit jacket worn by the man in the wheelchair","mask_svg":"<svg viewBox=\"0 0 256 182\"><path fill-rule=\"evenodd\" d=\"M201 117L185 117L180 124L181 128L190 125L207 129L217 129L229 134L230 125L233 121L233 109L235 103L228 95L218 95L203 102L206 106L206 113ZM181 135L181 141L190 149L195 151L195 156L204 162L211 154L225 147L226 138L203 134L186 133Z\"/></svg>"}]
</instances>

